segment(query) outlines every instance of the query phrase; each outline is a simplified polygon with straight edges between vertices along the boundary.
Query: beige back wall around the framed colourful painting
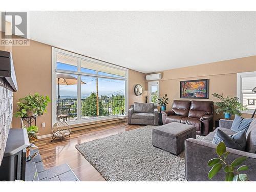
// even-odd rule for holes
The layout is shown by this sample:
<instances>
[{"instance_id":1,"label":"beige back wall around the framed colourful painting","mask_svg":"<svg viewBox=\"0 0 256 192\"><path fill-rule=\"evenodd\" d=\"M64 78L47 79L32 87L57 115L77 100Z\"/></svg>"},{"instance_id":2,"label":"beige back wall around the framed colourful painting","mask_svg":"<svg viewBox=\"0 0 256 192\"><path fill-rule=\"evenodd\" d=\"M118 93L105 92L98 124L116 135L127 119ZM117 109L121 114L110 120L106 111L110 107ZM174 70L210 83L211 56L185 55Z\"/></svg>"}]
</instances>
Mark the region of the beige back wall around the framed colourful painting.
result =
<instances>
[{"instance_id":1,"label":"beige back wall around the framed colourful painting","mask_svg":"<svg viewBox=\"0 0 256 192\"><path fill-rule=\"evenodd\" d=\"M237 95L237 73L248 71L256 71L256 56L163 71L159 83L160 97L165 93L168 95L170 102L167 105L167 110L169 110L172 101L180 99L180 81L195 79L209 79L209 99L201 100L217 101L212 97L212 93L223 93L224 96L230 95L233 97ZM250 116L251 114L243 114L243 117ZM220 117L223 117L223 115L215 114L215 119Z\"/></svg>"}]
</instances>

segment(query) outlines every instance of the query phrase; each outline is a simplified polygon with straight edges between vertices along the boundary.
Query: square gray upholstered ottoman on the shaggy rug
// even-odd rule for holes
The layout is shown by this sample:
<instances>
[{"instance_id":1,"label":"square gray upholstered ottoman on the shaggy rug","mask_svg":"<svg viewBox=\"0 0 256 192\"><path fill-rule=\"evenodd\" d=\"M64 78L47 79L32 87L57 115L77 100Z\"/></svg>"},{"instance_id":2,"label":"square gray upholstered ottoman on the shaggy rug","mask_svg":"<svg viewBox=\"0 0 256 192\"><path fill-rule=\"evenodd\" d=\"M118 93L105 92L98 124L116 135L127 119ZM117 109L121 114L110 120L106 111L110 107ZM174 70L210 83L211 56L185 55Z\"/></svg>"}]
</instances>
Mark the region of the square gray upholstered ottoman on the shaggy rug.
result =
<instances>
[{"instance_id":1,"label":"square gray upholstered ottoman on the shaggy rug","mask_svg":"<svg viewBox=\"0 0 256 192\"><path fill-rule=\"evenodd\" d=\"M182 123L168 123L153 129L152 144L175 155L184 151L184 141L196 139L196 127Z\"/></svg>"}]
</instances>

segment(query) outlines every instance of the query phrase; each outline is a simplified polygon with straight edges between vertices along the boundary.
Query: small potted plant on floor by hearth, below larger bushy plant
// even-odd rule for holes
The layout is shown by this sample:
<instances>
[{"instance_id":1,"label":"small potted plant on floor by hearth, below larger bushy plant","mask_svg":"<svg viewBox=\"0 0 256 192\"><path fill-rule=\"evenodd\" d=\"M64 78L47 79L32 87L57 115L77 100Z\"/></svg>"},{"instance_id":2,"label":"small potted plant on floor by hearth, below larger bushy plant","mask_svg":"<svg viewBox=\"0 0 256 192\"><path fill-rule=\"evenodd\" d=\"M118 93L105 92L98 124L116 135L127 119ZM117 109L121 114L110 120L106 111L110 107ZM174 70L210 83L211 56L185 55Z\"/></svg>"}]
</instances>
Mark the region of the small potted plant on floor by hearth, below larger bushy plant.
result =
<instances>
[{"instance_id":1,"label":"small potted plant on floor by hearth, below larger bushy plant","mask_svg":"<svg viewBox=\"0 0 256 192\"><path fill-rule=\"evenodd\" d=\"M37 134L38 134L38 127L35 125L26 127L24 126L23 129L27 129L28 137L29 137L29 143L30 146L27 147L27 157L30 156L30 152L34 150L35 148L38 148L35 143L37 141Z\"/></svg>"}]
</instances>

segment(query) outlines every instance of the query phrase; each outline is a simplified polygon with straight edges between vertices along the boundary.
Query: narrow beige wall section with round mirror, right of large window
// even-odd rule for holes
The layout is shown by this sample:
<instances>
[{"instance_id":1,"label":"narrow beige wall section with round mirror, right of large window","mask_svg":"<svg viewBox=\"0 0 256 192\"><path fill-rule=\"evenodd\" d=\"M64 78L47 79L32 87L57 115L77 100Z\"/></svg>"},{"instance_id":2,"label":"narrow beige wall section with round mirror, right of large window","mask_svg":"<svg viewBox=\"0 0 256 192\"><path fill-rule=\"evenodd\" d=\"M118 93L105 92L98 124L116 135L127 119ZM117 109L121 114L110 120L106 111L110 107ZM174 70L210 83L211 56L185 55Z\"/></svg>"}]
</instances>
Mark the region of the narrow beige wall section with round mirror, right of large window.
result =
<instances>
[{"instance_id":1,"label":"narrow beige wall section with round mirror, right of large window","mask_svg":"<svg viewBox=\"0 0 256 192\"><path fill-rule=\"evenodd\" d=\"M142 95L136 96L134 93L134 87L136 84L141 84L143 90L146 89L145 76L146 74L144 73L129 70L129 107L134 102L145 102L145 97Z\"/></svg>"}]
</instances>

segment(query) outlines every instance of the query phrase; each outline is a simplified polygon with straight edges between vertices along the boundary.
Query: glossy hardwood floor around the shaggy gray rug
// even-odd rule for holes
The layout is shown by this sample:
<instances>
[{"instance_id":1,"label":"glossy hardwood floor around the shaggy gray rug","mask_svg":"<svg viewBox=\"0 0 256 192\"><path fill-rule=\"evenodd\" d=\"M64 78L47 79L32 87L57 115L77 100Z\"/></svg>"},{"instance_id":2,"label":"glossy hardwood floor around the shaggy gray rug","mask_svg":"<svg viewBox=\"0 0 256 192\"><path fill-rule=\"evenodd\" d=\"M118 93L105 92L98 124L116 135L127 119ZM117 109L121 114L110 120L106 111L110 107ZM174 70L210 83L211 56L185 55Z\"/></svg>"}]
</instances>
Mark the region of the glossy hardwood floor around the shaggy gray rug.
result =
<instances>
[{"instance_id":1,"label":"glossy hardwood floor around the shaggy gray rug","mask_svg":"<svg viewBox=\"0 0 256 192\"><path fill-rule=\"evenodd\" d=\"M37 146L45 168L68 163L80 181L105 181L97 170L75 148L76 144L130 131L142 125L119 126L117 124L95 127L90 130L72 132L63 141L51 138L39 139Z\"/></svg>"}]
</instances>

